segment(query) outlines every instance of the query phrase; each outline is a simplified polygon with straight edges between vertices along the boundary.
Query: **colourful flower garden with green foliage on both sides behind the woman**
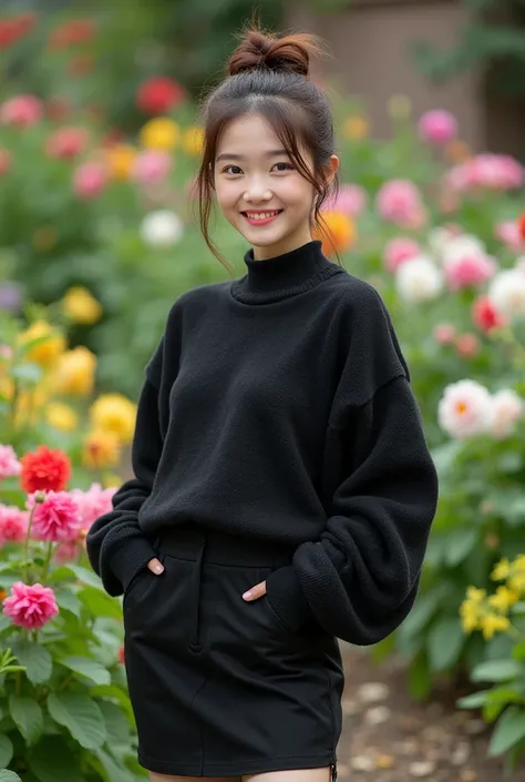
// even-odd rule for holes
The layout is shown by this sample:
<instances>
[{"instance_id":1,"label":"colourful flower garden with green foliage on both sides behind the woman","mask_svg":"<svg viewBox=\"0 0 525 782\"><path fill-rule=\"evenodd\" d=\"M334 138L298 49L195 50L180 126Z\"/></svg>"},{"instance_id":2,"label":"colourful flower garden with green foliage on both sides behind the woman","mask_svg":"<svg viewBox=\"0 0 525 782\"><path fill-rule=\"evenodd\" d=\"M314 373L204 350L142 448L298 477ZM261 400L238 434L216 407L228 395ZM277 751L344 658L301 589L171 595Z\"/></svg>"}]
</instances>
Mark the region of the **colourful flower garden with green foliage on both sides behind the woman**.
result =
<instances>
[{"instance_id":1,"label":"colourful flower garden with green foliage on both sides behind the woman","mask_svg":"<svg viewBox=\"0 0 525 782\"><path fill-rule=\"evenodd\" d=\"M20 18L0 40L17 45L30 29ZM143 367L169 306L240 275L245 246L217 217L227 268L199 236L202 131L184 89L147 80L136 105L143 124L123 135L60 97L0 102L0 782L144 779L121 601L83 540L127 474ZM403 95L389 102L389 141L356 102L334 95L333 109L342 184L318 235L392 314L441 485L415 607L371 651L405 659L414 698L466 676L457 709L481 710L490 752L514 768L525 754L525 170L473 153L453 116L414 116Z\"/></svg>"}]
</instances>

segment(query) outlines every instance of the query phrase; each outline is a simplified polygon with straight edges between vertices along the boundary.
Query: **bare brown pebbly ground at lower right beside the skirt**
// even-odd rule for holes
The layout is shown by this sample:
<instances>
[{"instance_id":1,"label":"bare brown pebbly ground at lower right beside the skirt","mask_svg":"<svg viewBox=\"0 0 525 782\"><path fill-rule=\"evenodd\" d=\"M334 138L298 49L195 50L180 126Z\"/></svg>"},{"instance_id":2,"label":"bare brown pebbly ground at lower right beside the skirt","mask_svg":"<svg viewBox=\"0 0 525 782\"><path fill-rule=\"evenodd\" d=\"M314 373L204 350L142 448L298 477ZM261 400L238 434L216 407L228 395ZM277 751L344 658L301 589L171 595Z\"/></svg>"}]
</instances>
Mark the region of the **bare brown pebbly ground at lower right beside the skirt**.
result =
<instances>
[{"instance_id":1,"label":"bare brown pebbly ground at lower right beside the skirt","mask_svg":"<svg viewBox=\"0 0 525 782\"><path fill-rule=\"evenodd\" d=\"M503 761L487 756L491 730L476 712L454 708L456 692L443 687L428 702L414 702L399 660L378 664L362 649L341 649L341 782L525 782L525 759L505 776Z\"/></svg>"}]
</instances>

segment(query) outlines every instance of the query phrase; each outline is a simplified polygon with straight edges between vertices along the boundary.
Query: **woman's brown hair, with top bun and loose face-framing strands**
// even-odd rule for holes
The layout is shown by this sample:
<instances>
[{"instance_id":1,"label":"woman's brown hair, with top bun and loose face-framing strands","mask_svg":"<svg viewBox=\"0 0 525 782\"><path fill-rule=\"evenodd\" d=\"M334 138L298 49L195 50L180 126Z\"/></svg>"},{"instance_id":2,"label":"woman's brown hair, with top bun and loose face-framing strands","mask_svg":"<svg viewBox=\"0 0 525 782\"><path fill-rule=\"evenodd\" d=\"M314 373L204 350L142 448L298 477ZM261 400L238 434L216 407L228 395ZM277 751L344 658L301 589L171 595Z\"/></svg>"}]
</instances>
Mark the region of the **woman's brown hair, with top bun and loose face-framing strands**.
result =
<instances>
[{"instance_id":1,"label":"woman's brown hair, with top bun and loose face-framing strands","mask_svg":"<svg viewBox=\"0 0 525 782\"><path fill-rule=\"evenodd\" d=\"M337 176L329 187L323 175L334 153L333 123L327 97L309 79L310 58L323 53L316 35L278 38L253 23L227 62L228 75L204 103L204 151L196 181L198 221L206 244L222 263L208 231L217 142L226 124L246 113L259 113L270 123L298 171L313 185L318 195L312 226L329 233L320 210L329 191L338 187ZM310 153L313 171L300 145Z\"/></svg>"}]
</instances>

